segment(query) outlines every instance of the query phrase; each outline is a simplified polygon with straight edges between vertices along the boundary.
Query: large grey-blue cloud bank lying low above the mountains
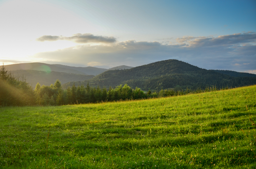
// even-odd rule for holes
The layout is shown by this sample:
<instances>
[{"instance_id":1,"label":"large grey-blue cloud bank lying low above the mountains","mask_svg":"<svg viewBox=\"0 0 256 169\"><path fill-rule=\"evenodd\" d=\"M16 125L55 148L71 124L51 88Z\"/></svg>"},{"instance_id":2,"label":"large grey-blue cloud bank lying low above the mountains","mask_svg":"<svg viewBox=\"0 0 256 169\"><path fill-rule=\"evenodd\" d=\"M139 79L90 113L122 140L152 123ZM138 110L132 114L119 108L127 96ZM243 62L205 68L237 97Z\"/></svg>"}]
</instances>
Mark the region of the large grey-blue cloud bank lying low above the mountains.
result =
<instances>
[{"instance_id":1,"label":"large grey-blue cloud bank lying low above the mountains","mask_svg":"<svg viewBox=\"0 0 256 169\"><path fill-rule=\"evenodd\" d=\"M126 40L109 45L77 45L35 57L67 64L140 66L160 60L179 58L204 69L249 71L256 65L256 34L237 33L218 37L186 36L178 44ZM246 64L244 64L246 63ZM249 63L249 64L247 64Z\"/></svg>"}]
</instances>

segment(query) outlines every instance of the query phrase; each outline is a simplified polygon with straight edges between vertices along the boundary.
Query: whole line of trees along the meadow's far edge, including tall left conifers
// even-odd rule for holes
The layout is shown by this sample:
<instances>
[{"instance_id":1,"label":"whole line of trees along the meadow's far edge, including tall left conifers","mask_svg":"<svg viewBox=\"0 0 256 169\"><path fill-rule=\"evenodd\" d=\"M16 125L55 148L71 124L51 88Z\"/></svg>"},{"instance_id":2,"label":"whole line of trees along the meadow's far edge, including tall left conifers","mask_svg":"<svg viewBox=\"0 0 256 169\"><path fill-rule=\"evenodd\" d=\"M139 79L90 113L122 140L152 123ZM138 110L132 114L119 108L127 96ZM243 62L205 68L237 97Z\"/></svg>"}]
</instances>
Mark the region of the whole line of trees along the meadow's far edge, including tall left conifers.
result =
<instances>
[{"instance_id":1,"label":"whole line of trees along the meadow's far edge, including tall left conifers","mask_svg":"<svg viewBox=\"0 0 256 169\"><path fill-rule=\"evenodd\" d=\"M23 76L14 77L11 71L5 69L4 65L0 69L0 106L27 106L27 105L68 105L68 104L84 104L108 101L147 99L185 95L188 93L200 93L207 91L216 91L216 86L207 87L204 90L197 88L196 90L183 90L179 85L173 89L161 89L159 92L142 91L135 87L132 89L127 84L118 85L115 88L108 89L92 87L87 83L86 86L73 84L71 87L63 90L59 79L54 85L46 86L36 84L35 89L26 82Z\"/></svg>"}]
</instances>

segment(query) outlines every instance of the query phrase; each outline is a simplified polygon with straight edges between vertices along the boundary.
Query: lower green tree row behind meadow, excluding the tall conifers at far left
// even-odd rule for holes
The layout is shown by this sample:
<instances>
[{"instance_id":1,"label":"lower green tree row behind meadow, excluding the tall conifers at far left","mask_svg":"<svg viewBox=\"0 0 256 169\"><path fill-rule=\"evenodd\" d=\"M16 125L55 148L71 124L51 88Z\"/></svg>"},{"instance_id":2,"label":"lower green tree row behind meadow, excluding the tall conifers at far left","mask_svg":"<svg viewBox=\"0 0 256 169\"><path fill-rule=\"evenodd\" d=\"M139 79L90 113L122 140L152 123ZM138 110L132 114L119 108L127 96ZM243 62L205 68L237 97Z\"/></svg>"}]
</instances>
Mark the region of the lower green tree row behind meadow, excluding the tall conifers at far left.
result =
<instances>
[{"instance_id":1,"label":"lower green tree row behind meadow, excluding the tall conifers at far left","mask_svg":"<svg viewBox=\"0 0 256 169\"><path fill-rule=\"evenodd\" d=\"M50 86L41 86L37 83L34 93L36 95L36 103L38 105L47 106L160 98L216 90L214 86L204 90L200 88L197 90L182 90L180 86L176 86L175 89L162 89L159 92L151 92L151 90L148 90L148 92L144 92L138 87L132 89L127 84L116 86L116 88L109 87L107 90L105 87L102 89L99 86L97 88L91 87L89 83L87 83L86 86L81 85L77 87L74 84L72 87L63 90L59 79L57 79L54 85Z\"/></svg>"}]
</instances>

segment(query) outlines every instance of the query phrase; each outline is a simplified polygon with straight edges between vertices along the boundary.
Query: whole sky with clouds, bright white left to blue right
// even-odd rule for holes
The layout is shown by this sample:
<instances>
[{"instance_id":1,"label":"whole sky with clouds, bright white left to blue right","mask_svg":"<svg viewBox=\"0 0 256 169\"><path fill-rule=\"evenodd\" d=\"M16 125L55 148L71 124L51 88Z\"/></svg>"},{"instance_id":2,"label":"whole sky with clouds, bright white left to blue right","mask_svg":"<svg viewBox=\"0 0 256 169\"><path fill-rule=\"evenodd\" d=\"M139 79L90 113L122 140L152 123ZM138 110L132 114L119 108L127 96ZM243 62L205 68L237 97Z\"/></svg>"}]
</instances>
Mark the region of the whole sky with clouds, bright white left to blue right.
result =
<instances>
[{"instance_id":1,"label":"whole sky with clouds, bright white left to blue right","mask_svg":"<svg viewBox=\"0 0 256 169\"><path fill-rule=\"evenodd\" d=\"M4 65L178 59L256 74L256 1L0 0L0 45Z\"/></svg>"}]
</instances>

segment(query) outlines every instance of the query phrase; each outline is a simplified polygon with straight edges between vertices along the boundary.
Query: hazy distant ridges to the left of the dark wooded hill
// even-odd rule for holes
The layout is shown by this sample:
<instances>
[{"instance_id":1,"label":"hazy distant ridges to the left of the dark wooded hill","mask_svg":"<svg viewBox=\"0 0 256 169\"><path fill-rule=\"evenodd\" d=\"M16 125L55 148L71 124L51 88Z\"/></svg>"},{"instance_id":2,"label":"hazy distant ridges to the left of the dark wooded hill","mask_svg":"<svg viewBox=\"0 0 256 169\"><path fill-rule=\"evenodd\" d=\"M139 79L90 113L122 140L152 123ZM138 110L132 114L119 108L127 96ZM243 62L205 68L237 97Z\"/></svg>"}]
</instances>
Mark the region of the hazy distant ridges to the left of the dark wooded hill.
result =
<instances>
[{"instance_id":1,"label":"hazy distant ridges to the left of the dark wooded hill","mask_svg":"<svg viewBox=\"0 0 256 169\"><path fill-rule=\"evenodd\" d=\"M24 80L36 86L39 82L41 85L54 84L56 79L59 79L62 84L73 81L84 81L99 75L107 70L122 70L133 68L131 66L117 66L110 69L102 69L96 67L74 67L61 64L46 64L46 63L19 63L5 66L11 70L15 77L22 76Z\"/></svg>"}]
</instances>

